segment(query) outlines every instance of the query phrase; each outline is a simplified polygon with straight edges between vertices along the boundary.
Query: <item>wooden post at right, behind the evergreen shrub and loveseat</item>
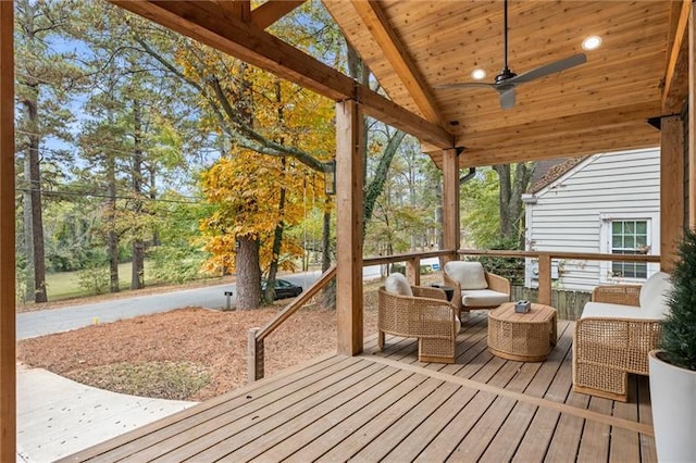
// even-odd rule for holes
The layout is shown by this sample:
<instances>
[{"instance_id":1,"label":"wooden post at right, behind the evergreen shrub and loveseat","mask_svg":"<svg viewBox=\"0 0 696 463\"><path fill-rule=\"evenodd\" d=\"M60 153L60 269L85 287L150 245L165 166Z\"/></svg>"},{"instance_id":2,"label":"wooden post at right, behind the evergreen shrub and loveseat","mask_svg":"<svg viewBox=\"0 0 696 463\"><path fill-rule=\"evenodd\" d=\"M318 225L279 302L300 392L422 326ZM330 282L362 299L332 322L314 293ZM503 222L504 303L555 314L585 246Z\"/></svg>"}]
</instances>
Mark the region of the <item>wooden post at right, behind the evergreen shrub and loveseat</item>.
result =
<instances>
[{"instance_id":1,"label":"wooden post at right, behind the evergreen shrub and loveseat","mask_svg":"<svg viewBox=\"0 0 696 463\"><path fill-rule=\"evenodd\" d=\"M671 273L684 229L684 129L679 116L662 117L660 141L660 270Z\"/></svg>"}]
</instances>

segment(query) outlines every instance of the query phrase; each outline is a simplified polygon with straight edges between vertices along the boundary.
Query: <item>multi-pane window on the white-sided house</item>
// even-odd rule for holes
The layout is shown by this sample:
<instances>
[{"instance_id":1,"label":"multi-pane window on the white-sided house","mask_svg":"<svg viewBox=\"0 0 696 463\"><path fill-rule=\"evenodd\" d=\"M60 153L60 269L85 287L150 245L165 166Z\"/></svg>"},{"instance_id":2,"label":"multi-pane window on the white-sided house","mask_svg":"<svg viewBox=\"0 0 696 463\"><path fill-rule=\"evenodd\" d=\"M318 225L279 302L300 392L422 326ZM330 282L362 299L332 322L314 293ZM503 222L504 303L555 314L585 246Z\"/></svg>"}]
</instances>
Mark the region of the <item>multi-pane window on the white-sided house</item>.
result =
<instances>
[{"instance_id":1,"label":"multi-pane window on the white-sided house","mask_svg":"<svg viewBox=\"0 0 696 463\"><path fill-rule=\"evenodd\" d=\"M612 254L647 254L648 221L612 221ZM625 278L647 278L647 264L644 262L611 262L611 276Z\"/></svg>"}]
</instances>

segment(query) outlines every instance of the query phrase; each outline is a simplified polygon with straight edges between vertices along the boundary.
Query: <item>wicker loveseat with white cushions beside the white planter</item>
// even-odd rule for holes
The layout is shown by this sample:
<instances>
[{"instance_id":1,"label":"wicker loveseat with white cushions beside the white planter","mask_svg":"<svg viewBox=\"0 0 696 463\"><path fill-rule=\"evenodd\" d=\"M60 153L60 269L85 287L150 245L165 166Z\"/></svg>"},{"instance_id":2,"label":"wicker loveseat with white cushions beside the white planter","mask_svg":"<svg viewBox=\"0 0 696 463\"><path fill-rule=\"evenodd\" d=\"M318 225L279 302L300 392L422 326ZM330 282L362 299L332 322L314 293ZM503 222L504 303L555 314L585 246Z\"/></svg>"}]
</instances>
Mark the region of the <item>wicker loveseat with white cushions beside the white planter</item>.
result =
<instances>
[{"instance_id":1,"label":"wicker loveseat with white cushions beside the white planter","mask_svg":"<svg viewBox=\"0 0 696 463\"><path fill-rule=\"evenodd\" d=\"M661 337L669 275L658 272L643 287L595 288L573 333L573 390L625 402L629 373L648 374L648 352Z\"/></svg>"}]
</instances>

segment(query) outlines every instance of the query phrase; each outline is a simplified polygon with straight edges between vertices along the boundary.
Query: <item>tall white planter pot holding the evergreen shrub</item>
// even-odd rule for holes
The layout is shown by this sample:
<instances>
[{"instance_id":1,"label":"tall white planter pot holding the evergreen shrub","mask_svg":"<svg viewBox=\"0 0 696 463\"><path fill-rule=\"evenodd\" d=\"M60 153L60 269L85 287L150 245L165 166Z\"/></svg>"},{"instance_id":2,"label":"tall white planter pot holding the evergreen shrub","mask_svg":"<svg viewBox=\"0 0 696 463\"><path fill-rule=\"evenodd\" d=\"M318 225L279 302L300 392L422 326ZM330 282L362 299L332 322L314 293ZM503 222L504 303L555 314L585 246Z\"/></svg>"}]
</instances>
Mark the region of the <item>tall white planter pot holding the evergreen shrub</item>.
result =
<instances>
[{"instance_id":1,"label":"tall white planter pot holding the evergreen shrub","mask_svg":"<svg viewBox=\"0 0 696 463\"><path fill-rule=\"evenodd\" d=\"M650 402L660 462L696 461L696 372L680 368L650 351Z\"/></svg>"}]
</instances>

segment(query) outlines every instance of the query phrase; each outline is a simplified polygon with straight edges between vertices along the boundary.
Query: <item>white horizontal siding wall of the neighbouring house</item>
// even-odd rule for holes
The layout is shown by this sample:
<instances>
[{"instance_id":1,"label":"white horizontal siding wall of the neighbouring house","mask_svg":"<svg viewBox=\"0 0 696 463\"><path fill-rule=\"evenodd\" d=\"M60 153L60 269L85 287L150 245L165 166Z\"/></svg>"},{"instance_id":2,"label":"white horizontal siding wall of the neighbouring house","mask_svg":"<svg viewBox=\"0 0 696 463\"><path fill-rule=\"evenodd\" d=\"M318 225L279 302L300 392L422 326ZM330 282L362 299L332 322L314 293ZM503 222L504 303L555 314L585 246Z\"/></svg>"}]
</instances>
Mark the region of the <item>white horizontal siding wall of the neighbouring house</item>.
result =
<instances>
[{"instance_id":1,"label":"white horizontal siding wall of the neighbouring house","mask_svg":"<svg viewBox=\"0 0 696 463\"><path fill-rule=\"evenodd\" d=\"M611 220L648 221L648 254L660 252L659 148L595 154L534 195L525 195L526 249L608 253ZM536 287L526 260L525 286ZM648 264L648 276L659 270ZM610 262L552 262L557 289L592 290L600 284L643 283L612 277Z\"/></svg>"}]
</instances>

